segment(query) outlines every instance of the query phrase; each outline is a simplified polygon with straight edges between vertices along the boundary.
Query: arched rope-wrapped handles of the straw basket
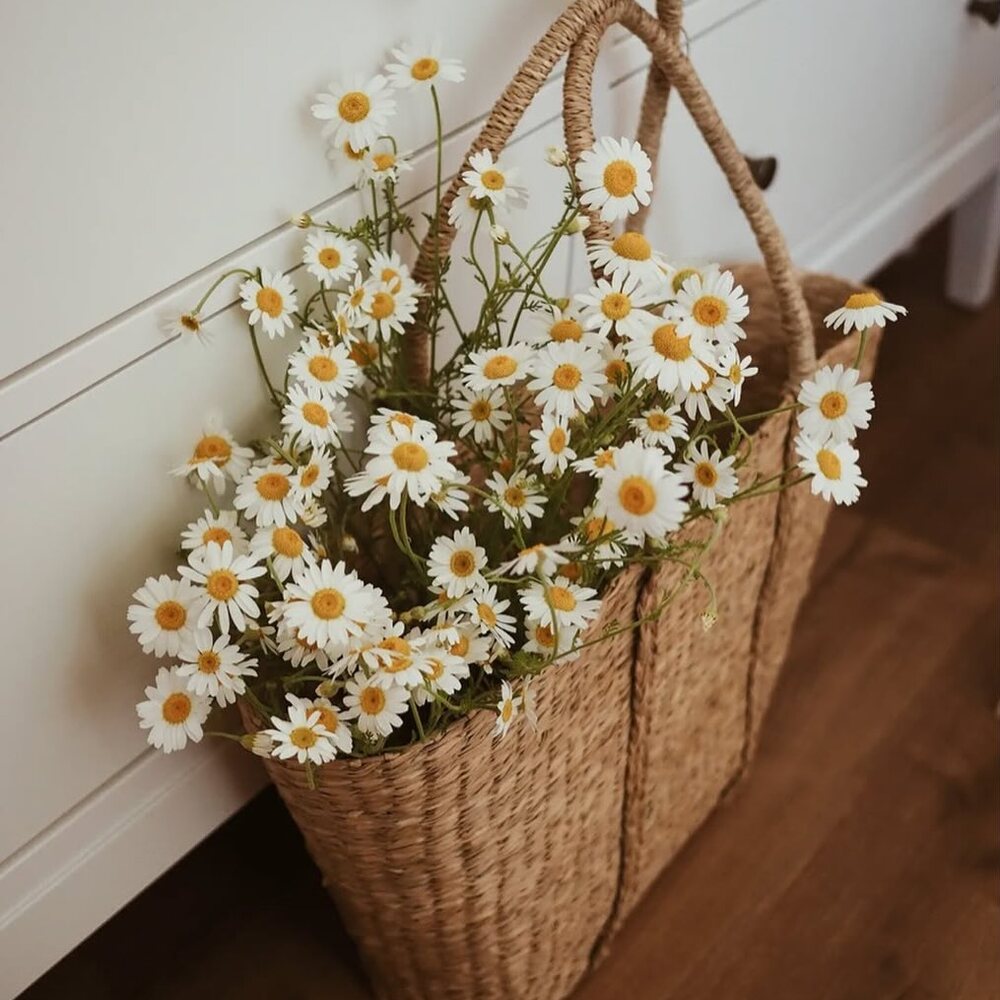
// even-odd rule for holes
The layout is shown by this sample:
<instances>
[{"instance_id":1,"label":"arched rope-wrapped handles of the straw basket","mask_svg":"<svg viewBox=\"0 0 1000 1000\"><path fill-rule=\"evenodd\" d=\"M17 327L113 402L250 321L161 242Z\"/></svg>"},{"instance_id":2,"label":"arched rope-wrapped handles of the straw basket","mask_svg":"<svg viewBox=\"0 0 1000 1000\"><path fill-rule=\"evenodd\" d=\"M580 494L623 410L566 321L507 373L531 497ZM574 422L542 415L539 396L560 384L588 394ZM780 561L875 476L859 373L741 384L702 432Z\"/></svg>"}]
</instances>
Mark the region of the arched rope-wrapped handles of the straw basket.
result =
<instances>
[{"instance_id":1,"label":"arched rope-wrapped handles of the straw basket","mask_svg":"<svg viewBox=\"0 0 1000 1000\"><path fill-rule=\"evenodd\" d=\"M414 277L425 284L432 282L435 258L446 255L451 249L455 229L448 221L448 210L462 187L462 172L469 159L481 149L490 149L494 154L503 149L531 100L567 52L569 60L563 82L563 118L571 160L575 163L580 153L593 145L592 87L597 49L604 32L617 22L645 43L659 74L647 85L637 135L640 145L655 164L669 94L669 88L661 82L662 78L662 81L673 85L687 106L750 223L774 286L782 325L788 335L790 374L798 381L811 374L816 364L809 310L796 280L784 237L754 183L746 161L678 45L680 6L681 0L660 0L658 10L665 18L661 23L639 7L635 0L574 0L531 50L469 148L462 167L442 196L436 234L432 228L421 245ZM603 224L593 228L596 230L593 236L607 232ZM430 331L426 306L418 312L413 329L406 334L403 351L410 381L417 386L428 385L431 376Z\"/></svg>"}]
</instances>

